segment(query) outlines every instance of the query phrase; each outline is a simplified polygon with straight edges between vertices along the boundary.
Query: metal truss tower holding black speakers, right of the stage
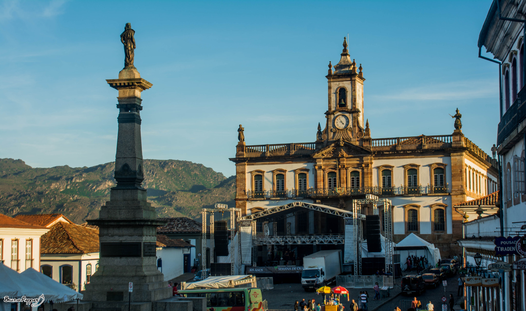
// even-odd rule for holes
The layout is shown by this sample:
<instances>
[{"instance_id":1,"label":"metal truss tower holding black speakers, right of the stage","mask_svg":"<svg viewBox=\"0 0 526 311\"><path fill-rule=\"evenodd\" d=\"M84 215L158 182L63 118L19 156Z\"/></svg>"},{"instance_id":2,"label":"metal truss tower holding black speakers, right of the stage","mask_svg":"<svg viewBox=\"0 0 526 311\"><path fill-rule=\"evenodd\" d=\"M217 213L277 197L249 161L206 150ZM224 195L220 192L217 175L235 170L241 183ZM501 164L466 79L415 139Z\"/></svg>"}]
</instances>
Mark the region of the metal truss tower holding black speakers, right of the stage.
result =
<instances>
[{"instance_id":1,"label":"metal truss tower holding black speakers, right of the stage","mask_svg":"<svg viewBox=\"0 0 526 311\"><path fill-rule=\"evenodd\" d=\"M386 272L393 271L393 245L392 245L392 217L391 217L391 200L389 199L378 199L376 195L367 195L366 199L352 200L352 215L361 215L361 209L363 205L372 204L373 214L378 215L378 204L383 204L383 214L380 219L381 232L385 237L385 269ZM354 236L357 241L357 247L354 251L354 258L357 262L354 265L354 274L361 275L361 242L362 242L362 224L361 219L352 216L352 225L354 227Z\"/></svg>"}]
</instances>

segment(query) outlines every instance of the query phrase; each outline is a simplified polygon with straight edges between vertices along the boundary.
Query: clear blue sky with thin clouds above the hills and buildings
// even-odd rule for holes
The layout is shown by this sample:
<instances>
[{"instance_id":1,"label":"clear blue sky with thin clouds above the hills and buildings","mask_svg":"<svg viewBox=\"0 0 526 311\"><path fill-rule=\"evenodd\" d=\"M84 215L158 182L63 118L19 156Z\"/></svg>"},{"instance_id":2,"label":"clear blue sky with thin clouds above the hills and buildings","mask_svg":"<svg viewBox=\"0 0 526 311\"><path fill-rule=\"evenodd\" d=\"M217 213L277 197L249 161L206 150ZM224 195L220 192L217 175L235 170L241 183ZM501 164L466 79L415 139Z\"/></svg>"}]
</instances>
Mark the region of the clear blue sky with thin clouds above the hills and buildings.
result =
<instances>
[{"instance_id":1,"label":"clear blue sky with thin clouds above the hills and buildings","mask_svg":"<svg viewBox=\"0 0 526 311\"><path fill-rule=\"evenodd\" d=\"M311 142L327 65L349 34L373 138L462 131L490 153L498 65L479 59L491 1L0 1L0 158L33 167L115 159L119 35L135 30L146 159L235 173L247 144ZM488 55L491 56L491 55Z\"/></svg>"}]
</instances>

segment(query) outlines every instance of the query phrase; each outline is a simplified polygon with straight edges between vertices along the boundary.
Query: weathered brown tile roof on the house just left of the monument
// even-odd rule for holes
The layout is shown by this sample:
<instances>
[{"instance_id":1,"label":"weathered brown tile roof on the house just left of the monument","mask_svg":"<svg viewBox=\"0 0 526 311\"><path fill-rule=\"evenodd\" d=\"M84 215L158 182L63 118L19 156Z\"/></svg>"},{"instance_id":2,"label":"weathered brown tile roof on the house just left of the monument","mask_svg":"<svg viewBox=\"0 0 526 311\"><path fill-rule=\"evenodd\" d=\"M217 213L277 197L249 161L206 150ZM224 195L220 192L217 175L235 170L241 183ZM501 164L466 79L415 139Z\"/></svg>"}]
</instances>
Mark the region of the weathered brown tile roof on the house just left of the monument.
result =
<instances>
[{"instance_id":1,"label":"weathered brown tile roof on the house just left of the monument","mask_svg":"<svg viewBox=\"0 0 526 311\"><path fill-rule=\"evenodd\" d=\"M98 230L58 222L41 238L42 254L87 254L99 251Z\"/></svg>"}]
</instances>

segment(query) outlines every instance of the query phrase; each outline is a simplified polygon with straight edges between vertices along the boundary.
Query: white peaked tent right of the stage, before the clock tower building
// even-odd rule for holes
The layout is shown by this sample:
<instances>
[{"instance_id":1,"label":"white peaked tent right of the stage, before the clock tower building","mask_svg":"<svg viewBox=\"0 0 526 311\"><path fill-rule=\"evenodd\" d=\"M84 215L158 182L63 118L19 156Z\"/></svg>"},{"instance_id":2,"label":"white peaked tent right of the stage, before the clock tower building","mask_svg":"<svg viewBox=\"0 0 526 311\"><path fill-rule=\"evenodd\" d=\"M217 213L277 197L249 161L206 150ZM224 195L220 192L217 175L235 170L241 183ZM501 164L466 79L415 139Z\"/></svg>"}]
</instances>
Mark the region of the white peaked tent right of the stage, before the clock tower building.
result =
<instances>
[{"instance_id":1,"label":"white peaked tent right of the stage, before the clock tower building","mask_svg":"<svg viewBox=\"0 0 526 311\"><path fill-rule=\"evenodd\" d=\"M409 234L400 243L396 244L395 252L400 254L400 267L402 270L407 268L406 259L409 255L424 256L428 258L430 265L436 264L440 259L438 247L434 247L434 244L421 239L414 233Z\"/></svg>"}]
</instances>

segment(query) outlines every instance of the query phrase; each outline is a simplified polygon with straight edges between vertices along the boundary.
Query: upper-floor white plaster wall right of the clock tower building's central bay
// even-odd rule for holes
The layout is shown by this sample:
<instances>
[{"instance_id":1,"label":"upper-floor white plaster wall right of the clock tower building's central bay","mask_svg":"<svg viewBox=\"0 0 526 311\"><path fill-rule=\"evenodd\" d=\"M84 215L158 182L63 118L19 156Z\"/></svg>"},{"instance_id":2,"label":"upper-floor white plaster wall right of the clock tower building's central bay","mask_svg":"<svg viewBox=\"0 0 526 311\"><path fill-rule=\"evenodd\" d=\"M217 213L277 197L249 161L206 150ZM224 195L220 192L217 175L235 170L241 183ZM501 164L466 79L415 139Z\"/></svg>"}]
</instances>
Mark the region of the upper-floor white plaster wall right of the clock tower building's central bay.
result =
<instances>
[{"instance_id":1,"label":"upper-floor white plaster wall right of the clock tower building's central bay","mask_svg":"<svg viewBox=\"0 0 526 311\"><path fill-rule=\"evenodd\" d=\"M374 160L372 163L373 168L375 169L372 174L372 183L373 185L380 185L381 181L378 181L378 167L380 165L393 165L393 176L392 176L392 185L400 186L405 185L404 182L404 173L403 165L406 164L418 164L420 165L419 169L419 179L422 186L427 184L432 184L431 182L431 168L429 164L433 163L445 163L446 166L444 175L444 182L449 183L451 187L451 158L450 157L428 157L428 158L407 158L407 159L385 159L385 160Z\"/></svg>"}]
</instances>

